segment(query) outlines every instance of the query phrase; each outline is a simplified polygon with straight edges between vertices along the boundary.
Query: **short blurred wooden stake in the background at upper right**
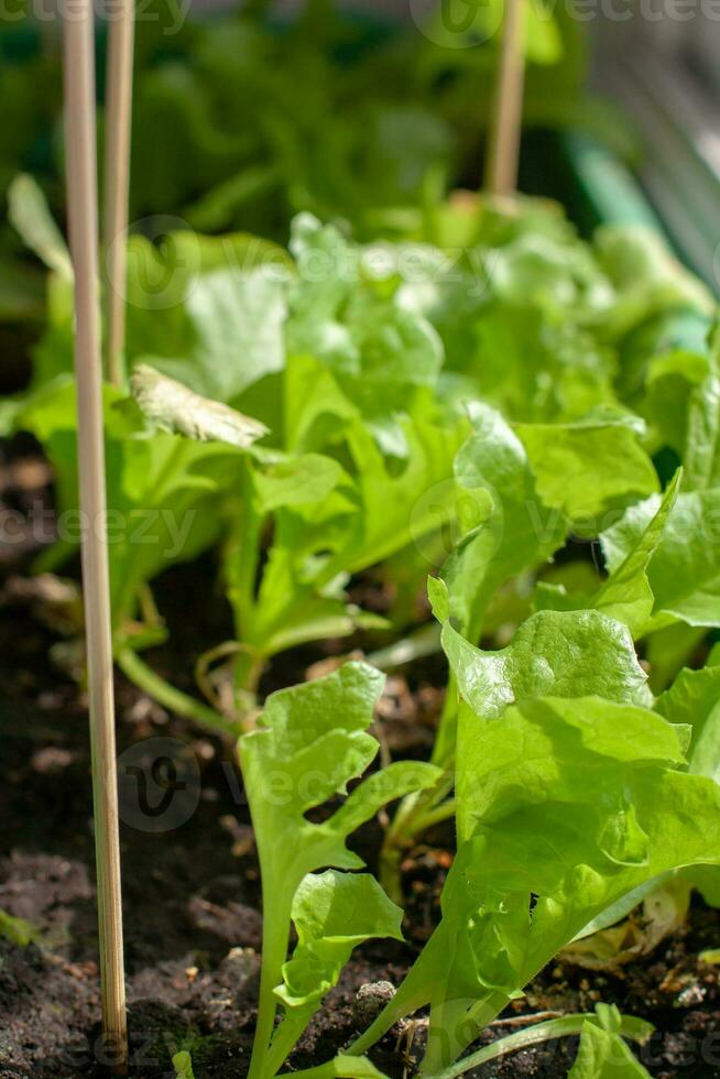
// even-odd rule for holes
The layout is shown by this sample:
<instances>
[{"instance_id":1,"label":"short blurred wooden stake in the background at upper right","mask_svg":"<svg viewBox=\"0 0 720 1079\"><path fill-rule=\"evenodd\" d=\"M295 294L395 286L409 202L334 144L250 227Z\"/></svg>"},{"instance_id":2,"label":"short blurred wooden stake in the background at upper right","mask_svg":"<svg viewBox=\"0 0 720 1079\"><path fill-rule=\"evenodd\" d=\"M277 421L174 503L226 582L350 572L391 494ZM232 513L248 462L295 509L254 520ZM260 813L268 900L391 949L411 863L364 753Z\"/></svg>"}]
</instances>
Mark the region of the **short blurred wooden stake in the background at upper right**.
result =
<instances>
[{"instance_id":1,"label":"short blurred wooden stake in the background at upper right","mask_svg":"<svg viewBox=\"0 0 720 1079\"><path fill-rule=\"evenodd\" d=\"M489 132L486 174L486 187L491 195L513 195L517 189L525 86L523 3L524 0L505 0L500 69Z\"/></svg>"}]
</instances>

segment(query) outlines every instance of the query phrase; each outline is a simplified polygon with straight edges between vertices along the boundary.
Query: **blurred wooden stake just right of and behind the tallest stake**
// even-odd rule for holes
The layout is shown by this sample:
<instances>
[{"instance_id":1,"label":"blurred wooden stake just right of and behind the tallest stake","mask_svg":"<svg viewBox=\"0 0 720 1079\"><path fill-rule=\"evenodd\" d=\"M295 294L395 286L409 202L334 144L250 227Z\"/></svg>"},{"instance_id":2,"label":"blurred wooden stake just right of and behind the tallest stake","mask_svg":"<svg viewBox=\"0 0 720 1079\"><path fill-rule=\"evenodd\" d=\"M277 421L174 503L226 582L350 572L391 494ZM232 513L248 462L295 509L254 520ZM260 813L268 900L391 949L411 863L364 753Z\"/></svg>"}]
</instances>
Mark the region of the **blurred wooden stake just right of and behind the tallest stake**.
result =
<instances>
[{"instance_id":1,"label":"blurred wooden stake just right of and behind the tallest stake","mask_svg":"<svg viewBox=\"0 0 720 1079\"><path fill-rule=\"evenodd\" d=\"M128 272L128 193L132 128L134 0L119 0L110 22L106 85L103 247L106 282L106 371L114 385L123 380L126 276Z\"/></svg>"}]
</instances>

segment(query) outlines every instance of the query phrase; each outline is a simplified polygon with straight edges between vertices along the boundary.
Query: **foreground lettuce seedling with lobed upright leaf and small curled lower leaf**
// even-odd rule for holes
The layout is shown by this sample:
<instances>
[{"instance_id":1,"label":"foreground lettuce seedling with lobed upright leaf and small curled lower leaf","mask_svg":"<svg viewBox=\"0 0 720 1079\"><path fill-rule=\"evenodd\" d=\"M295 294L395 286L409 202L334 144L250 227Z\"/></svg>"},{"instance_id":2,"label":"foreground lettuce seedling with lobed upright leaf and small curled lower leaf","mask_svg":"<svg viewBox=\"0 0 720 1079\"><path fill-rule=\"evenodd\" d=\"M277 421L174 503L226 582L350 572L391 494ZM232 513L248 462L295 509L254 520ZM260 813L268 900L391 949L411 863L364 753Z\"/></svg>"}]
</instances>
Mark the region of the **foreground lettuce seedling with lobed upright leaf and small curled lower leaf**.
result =
<instances>
[{"instance_id":1,"label":"foreground lettuce seedling with lobed upright leaf and small curled lower leaf","mask_svg":"<svg viewBox=\"0 0 720 1079\"><path fill-rule=\"evenodd\" d=\"M430 787L439 770L399 762L353 787L329 817L313 813L347 792L375 758L368 733L383 676L366 664L266 701L259 729L240 740L240 763L263 882L260 1006L251 1079L272 1079L357 942L400 934L401 912L366 875L347 838L388 802ZM286 962L291 922L298 945ZM285 1017L273 1033L279 1001Z\"/></svg>"}]
</instances>

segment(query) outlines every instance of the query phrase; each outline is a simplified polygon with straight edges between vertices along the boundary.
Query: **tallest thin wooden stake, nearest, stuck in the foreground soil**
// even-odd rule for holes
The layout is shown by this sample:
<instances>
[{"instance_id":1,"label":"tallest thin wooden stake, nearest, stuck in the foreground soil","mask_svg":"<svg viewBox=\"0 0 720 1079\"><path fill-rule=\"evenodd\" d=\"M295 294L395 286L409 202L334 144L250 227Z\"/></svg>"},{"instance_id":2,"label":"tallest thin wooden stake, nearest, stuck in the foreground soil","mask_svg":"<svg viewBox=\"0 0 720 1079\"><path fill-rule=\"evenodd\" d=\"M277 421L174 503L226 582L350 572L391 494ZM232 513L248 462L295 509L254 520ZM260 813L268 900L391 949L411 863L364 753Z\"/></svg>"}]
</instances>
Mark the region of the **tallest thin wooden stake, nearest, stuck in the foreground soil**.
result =
<instances>
[{"instance_id":1,"label":"tallest thin wooden stake, nearest, stuck in the foreground soil","mask_svg":"<svg viewBox=\"0 0 720 1079\"><path fill-rule=\"evenodd\" d=\"M98 189L92 0L75 0L65 23L65 132L70 252L75 269L75 368L83 581L95 843L98 878L102 1027L122 1070L128 1031L122 948L110 582L106 536L102 371L98 294Z\"/></svg>"}]
</instances>

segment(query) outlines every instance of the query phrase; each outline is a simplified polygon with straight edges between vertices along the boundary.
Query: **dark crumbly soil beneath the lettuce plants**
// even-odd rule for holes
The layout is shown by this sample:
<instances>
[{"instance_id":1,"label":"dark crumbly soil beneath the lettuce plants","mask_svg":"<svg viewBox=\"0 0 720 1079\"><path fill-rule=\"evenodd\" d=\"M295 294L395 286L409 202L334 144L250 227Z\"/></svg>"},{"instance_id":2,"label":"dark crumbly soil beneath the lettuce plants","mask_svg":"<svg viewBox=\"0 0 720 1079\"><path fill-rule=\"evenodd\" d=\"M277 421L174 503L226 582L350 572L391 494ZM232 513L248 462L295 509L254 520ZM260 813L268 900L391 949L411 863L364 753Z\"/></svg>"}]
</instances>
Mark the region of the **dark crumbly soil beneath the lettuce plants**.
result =
<instances>
[{"instance_id":1,"label":"dark crumbly soil beneath the lettuce plants","mask_svg":"<svg viewBox=\"0 0 720 1079\"><path fill-rule=\"evenodd\" d=\"M32 447L19 450L13 460L22 467L13 465L12 473L0 469L0 497L26 510L23 483L33 499L45 500L47 478ZM51 619L55 629L48 628L46 597L39 599L24 576L34 546L25 537L0 552L0 911L39 931L37 941L24 948L0 937L0 1079L105 1073L87 718L76 685L51 660L57 611ZM212 589L214 570L206 559L167 574L157 589L173 651L156 650L152 663L184 680L184 688L190 688L192 660L203 644L230 635L228 612ZM279 682L303 677L310 663L331 652L329 644L325 653L296 654ZM435 662L390 679L378 717L389 752L427 754L441 702L435 687L441 684ZM232 748L163 712L120 678L117 698L132 1075L172 1076L172 1054L189 1048L197 1079L241 1079L253 1033L261 916L252 829ZM143 792L128 767L149 754L170 759L175 774L176 797L155 818L138 813ZM144 794L157 804L152 789ZM149 819L154 830L148 830ZM378 838L378 828L358 837L363 854L372 858ZM294 1067L325 1061L351 1038L361 985L400 982L437 919L450 848L451 836L439 831L408 854L408 942L382 941L356 953L294 1055ZM614 1001L656 1025L659 1033L643 1050L652 1075L720 1076L718 968L698 959L718 944L716 914L698 904L684 930L622 973L553 964L487 1039L516 1029L528 1013L592 1010L598 1000ZM393 1031L375 1062L391 1077L412 1075L423 1040L422 1024ZM565 1076L575 1047L550 1044L476 1075Z\"/></svg>"}]
</instances>

